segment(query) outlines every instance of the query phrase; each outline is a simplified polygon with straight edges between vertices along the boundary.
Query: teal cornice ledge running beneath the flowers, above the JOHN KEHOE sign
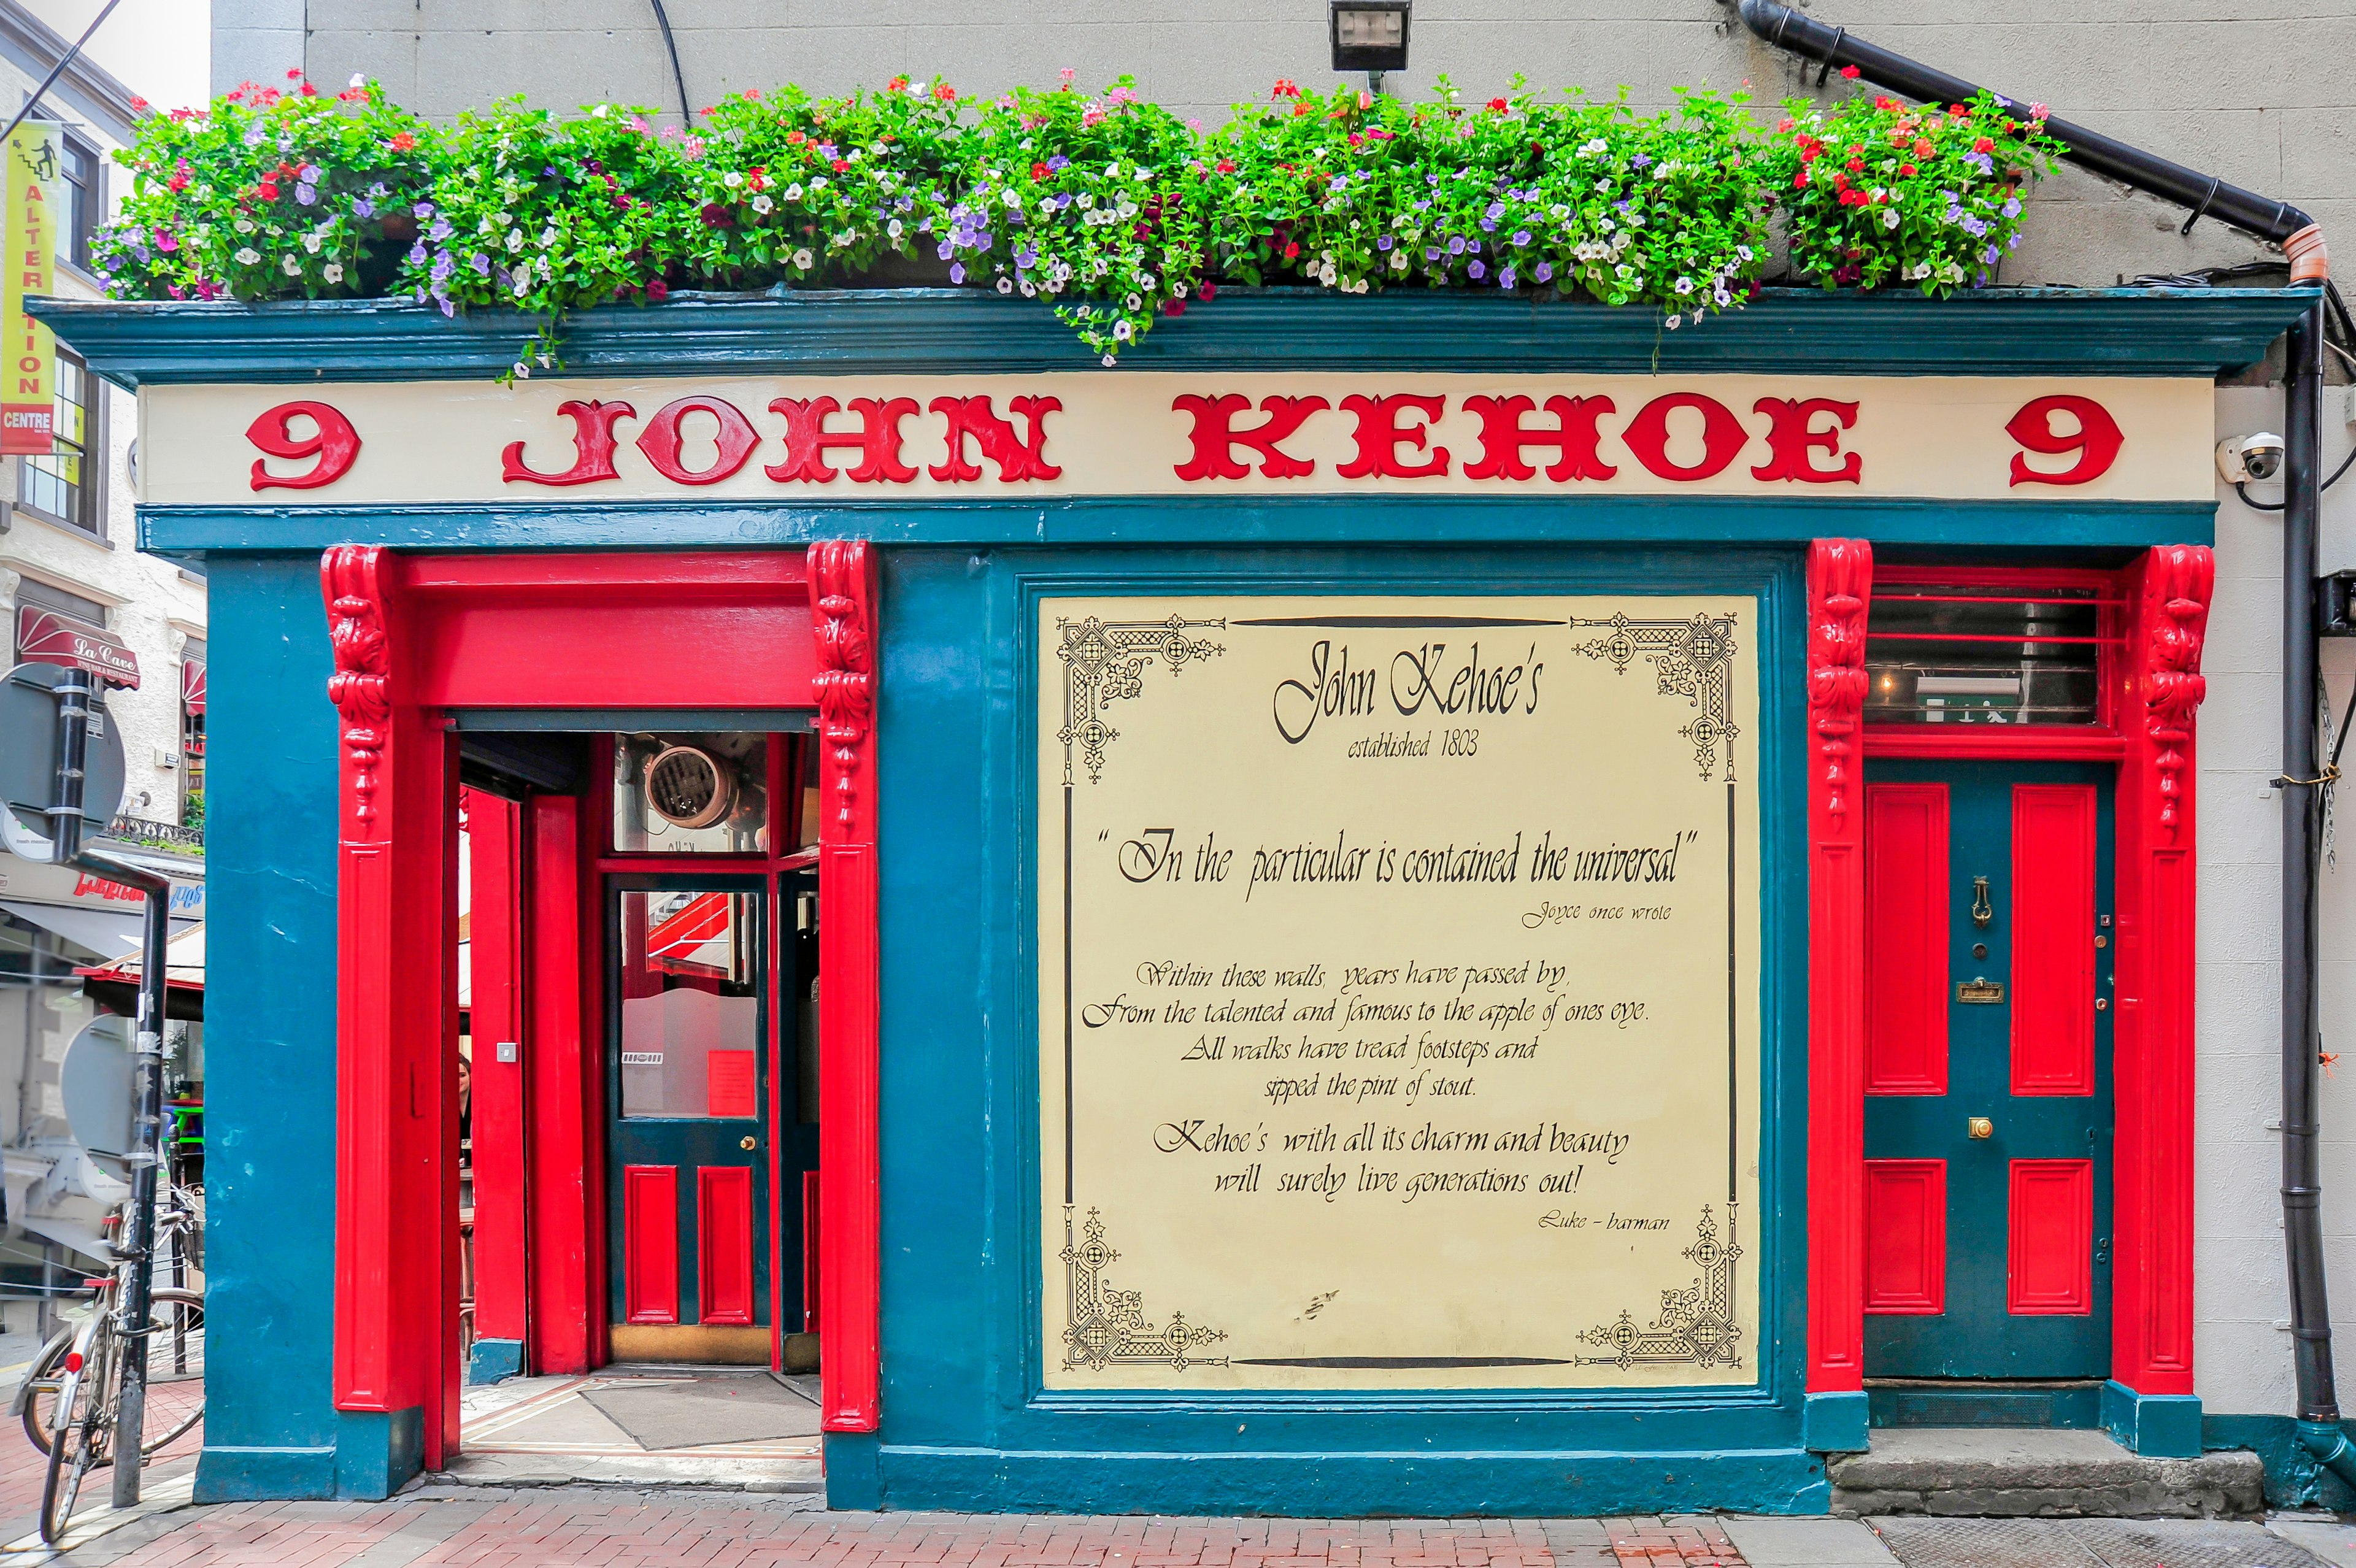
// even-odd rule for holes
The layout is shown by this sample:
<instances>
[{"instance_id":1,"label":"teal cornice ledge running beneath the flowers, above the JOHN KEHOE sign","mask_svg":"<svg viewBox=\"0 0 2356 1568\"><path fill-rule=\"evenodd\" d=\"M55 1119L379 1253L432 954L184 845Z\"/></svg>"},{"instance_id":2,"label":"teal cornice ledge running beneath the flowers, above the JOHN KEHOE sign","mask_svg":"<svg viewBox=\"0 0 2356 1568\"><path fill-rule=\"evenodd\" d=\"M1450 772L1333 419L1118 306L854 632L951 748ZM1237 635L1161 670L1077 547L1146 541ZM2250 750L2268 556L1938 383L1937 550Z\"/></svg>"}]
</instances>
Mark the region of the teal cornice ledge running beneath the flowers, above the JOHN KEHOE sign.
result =
<instances>
[{"instance_id":1,"label":"teal cornice ledge running beneath the flowers, above the JOHN KEHOE sign","mask_svg":"<svg viewBox=\"0 0 2356 1568\"><path fill-rule=\"evenodd\" d=\"M1124 370L1543 370L1696 374L2210 377L2259 360L2314 290L1979 290L1922 299L1765 290L1670 332L1652 311L1494 292L1223 290ZM28 306L125 388L172 381L481 381L544 325L410 301ZM563 374L1096 370L1051 311L982 290L775 290L603 306L563 327ZM1119 372L1107 372L1119 374Z\"/></svg>"}]
</instances>

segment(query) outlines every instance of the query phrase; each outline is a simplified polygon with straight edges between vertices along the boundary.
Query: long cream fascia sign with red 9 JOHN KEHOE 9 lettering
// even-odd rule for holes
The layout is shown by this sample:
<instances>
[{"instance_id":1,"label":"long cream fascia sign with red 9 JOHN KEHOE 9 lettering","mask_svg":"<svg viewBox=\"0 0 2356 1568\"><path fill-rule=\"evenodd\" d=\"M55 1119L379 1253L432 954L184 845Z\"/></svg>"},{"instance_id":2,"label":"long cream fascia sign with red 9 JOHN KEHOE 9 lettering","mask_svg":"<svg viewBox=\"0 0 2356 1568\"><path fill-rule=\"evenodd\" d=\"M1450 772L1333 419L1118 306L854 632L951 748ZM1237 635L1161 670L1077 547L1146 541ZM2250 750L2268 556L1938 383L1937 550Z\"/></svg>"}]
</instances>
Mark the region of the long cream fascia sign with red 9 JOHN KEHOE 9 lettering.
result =
<instances>
[{"instance_id":1,"label":"long cream fascia sign with red 9 JOHN KEHOE 9 lettering","mask_svg":"<svg viewBox=\"0 0 2356 1568\"><path fill-rule=\"evenodd\" d=\"M2215 492L2201 379L1091 370L151 386L139 410L151 506Z\"/></svg>"}]
</instances>

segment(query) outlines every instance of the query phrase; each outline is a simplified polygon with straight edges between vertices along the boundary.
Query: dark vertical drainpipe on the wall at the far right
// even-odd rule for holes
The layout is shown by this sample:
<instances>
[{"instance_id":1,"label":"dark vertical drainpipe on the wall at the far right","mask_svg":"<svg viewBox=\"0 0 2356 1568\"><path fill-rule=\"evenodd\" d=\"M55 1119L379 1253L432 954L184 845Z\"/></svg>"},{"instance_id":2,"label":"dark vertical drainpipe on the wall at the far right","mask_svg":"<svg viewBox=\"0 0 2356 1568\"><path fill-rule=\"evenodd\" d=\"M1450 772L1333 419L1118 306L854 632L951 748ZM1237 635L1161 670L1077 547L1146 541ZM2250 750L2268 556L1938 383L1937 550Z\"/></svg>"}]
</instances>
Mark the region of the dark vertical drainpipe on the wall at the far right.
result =
<instances>
[{"instance_id":1,"label":"dark vertical drainpipe on the wall at the far right","mask_svg":"<svg viewBox=\"0 0 2356 1568\"><path fill-rule=\"evenodd\" d=\"M2323 301L2290 325L2283 388L2283 1231L2299 1422L2340 1422L2332 1314L2323 1290L2323 1170L2316 1090L2316 520L2321 492Z\"/></svg>"}]
</instances>

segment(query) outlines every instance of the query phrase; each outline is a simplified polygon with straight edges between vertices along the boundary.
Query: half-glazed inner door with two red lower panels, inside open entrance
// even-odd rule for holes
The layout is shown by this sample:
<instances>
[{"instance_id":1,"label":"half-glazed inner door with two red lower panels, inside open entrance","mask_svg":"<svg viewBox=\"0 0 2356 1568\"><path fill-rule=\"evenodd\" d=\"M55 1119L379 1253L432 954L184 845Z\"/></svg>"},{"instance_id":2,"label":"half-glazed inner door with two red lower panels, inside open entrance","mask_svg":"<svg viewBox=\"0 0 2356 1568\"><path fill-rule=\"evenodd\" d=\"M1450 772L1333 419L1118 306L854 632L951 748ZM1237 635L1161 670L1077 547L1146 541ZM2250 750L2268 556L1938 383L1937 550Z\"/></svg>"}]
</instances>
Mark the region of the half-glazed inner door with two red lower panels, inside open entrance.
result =
<instances>
[{"instance_id":1,"label":"half-glazed inner door with two red lower panels, inside open entrance","mask_svg":"<svg viewBox=\"0 0 2356 1568\"><path fill-rule=\"evenodd\" d=\"M605 878L615 1361L770 1363L766 888Z\"/></svg>"}]
</instances>

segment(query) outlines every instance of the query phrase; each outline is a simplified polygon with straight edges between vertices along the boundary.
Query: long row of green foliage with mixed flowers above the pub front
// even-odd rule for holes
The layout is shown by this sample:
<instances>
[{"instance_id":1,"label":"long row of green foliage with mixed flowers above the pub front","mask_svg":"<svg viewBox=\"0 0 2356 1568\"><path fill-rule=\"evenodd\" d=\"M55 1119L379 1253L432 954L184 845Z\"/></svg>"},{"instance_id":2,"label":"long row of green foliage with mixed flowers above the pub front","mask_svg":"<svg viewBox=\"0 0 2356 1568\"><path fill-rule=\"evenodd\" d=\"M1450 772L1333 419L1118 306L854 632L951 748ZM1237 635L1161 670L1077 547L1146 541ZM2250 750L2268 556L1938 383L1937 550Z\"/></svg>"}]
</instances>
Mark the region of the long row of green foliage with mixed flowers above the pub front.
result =
<instances>
[{"instance_id":1,"label":"long row of green foliage with mixed flowers above the pub front","mask_svg":"<svg viewBox=\"0 0 2356 1568\"><path fill-rule=\"evenodd\" d=\"M813 99L737 94L700 125L521 99L436 127L372 82L299 78L148 115L97 245L130 299L391 294L511 306L554 363L580 308L676 287L874 283L1044 299L1105 363L1223 283L1341 292L1550 292L1699 323L1767 268L1781 210L1795 268L1833 285L1984 280L2019 238L2054 144L1993 99L1958 111L1852 97L1760 132L1741 97L1425 104L1279 80L1216 132L1145 104L949 82Z\"/></svg>"}]
</instances>

